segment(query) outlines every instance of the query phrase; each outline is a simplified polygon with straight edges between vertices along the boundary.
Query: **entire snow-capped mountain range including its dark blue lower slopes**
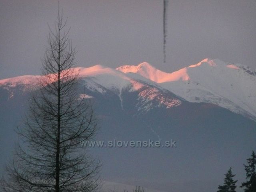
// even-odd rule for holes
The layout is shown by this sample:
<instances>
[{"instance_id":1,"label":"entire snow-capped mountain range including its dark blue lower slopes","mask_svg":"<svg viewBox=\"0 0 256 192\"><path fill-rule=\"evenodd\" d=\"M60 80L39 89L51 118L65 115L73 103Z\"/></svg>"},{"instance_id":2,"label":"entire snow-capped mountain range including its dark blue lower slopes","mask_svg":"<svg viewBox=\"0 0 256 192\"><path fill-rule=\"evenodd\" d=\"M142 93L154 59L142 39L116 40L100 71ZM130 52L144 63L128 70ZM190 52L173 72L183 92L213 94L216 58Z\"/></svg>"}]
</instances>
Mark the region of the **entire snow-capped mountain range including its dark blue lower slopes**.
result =
<instances>
[{"instance_id":1,"label":"entire snow-capped mountain range including its dark blue lower slopes","mask_svg":"<svg viewBox=\"0 0 256 192\"><path fill-rule=\"evenodd\" d=\"M93 148L105 189L214 192L230 166L244 180L242 163L256 147L253 70L209 59L173 73L146 62L74 70L78 98L92 101L102 125L97 140L177 140L177 148ZM0 80L0 173L40 78Z\"/></svg>"}]
</instances>

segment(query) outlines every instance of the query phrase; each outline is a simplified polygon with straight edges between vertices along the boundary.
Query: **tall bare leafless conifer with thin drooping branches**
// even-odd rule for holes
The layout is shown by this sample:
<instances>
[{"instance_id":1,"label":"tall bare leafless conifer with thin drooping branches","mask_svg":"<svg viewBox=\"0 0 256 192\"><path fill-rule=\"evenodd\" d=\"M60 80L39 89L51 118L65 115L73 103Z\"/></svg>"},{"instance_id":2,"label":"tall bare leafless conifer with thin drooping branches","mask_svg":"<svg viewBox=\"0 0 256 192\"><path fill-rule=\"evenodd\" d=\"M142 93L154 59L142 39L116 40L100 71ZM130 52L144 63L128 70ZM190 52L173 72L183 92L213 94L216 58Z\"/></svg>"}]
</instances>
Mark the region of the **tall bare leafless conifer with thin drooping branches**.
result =
<instances>
[{"instance_id":1,"label":"tall bare leafless conifer with thin drooping branches","mask_svg":"<svg viewBox=\"0 0 256 192\"><path fill-rule=\"evenodd\" d=\"M79 148L94 136L97 123L90 105L78 98L75 50L65 25L58 9L40 88L30 98L14 160L1 180L5 192L91 192L98 186L99 163Z\"/></svg>"}]
</instances>

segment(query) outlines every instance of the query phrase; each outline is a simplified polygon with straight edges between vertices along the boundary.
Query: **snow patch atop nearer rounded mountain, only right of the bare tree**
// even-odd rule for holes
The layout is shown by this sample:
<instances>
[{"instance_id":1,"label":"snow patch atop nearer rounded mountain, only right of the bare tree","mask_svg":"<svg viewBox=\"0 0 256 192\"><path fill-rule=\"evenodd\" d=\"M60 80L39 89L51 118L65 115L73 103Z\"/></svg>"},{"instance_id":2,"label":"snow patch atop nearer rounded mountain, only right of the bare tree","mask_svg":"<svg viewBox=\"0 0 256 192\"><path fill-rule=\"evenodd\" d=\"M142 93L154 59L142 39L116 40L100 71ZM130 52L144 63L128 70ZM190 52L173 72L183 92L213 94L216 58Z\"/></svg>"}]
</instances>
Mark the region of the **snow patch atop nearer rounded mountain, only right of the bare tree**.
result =
<instances>
[{"instance_id":1,"label":"snow patch atop nearer rounded mountain, only right of the bare tree","mask_svg":"<svg viewBox=\"0 0 256 192\"><path fill-rule=\"evenodd\" d=\"M109 90L114 92L120 98L122 108L122 93L124 91L138 92L138 110L150 110L155 107L153 101L158 102L158 107L165 106L166 108L181 104L179 99L166 96L162 88L134 80L126 74L106 66L97 65L90 68L78 68L78 71L79 77L84 80L87 88L102 94Z\"/></svg>"}]
</instances>

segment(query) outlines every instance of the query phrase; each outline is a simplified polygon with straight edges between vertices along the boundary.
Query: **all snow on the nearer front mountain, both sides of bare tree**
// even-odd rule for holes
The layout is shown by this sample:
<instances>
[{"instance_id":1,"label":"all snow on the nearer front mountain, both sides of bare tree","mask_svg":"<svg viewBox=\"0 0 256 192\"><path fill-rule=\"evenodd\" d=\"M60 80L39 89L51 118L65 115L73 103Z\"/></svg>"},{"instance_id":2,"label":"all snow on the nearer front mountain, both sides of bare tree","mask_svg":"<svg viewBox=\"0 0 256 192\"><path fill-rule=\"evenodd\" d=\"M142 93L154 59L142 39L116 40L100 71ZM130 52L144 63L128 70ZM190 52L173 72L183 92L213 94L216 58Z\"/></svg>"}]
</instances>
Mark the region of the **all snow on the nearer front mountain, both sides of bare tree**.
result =
<instances>
[{"instance_id":1,"label":"all snow on the nearer front mountain, both sides of bare tree","mask_svg":"<svg viewBox=\"0 0 256 192\"><path fill-rule=\"evenodd\" d=\"M112 92L116 94L120 99L121 107L123 108L122 94L124 92L137 92L138 94L138 110L148 111L154 107L164 106L170 108L181 104L181 100L174 96L174 94L166 94L167 90L156 86L153 82L145 82L141 80L135 80L128 77L126 74L108 68L106 66L96 65L88 68L78 67L74 68L74 72L78 72L78 77L83 82L82 86L86 86L93 92L99 92L105 94L106 92ZM50 74L54 77L54 74ZM0 88L9 91L9 98L14 96L14 90L19 88L23 91L29 90L29 88L35 88L38 85L38 79L43 76L20 76L15 78L8 78L0 80ZM56 79L56 78L52 78ZM92 98L87 94L80 94L78 98ZM157 102L156 104L153 104Z\"/></svg>"}]
</instances>

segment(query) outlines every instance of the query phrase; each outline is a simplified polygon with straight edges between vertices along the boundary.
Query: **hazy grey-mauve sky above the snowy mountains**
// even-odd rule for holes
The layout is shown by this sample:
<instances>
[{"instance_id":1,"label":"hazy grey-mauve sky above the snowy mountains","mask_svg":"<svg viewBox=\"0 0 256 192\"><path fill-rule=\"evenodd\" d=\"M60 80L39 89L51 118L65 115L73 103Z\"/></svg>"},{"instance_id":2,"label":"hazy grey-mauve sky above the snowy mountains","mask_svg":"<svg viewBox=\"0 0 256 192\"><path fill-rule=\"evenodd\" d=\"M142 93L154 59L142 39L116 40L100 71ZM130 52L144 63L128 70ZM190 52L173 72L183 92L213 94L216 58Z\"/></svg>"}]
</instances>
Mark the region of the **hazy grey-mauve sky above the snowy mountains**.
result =
<instances>
[{"instance_id":1,"label":"hazy grey-mauve sky above the snowy mountains","mask_svg":"<svg viewBox=\"0 0 256 192\"><path fill-rule=\"evenodd\" d=\"M149 62L168 72L204 58L256 68L256 0L60 0L78 66ZM0 79L40 74L57 0L0 0Z\"/></svg>"}]
</instances>

